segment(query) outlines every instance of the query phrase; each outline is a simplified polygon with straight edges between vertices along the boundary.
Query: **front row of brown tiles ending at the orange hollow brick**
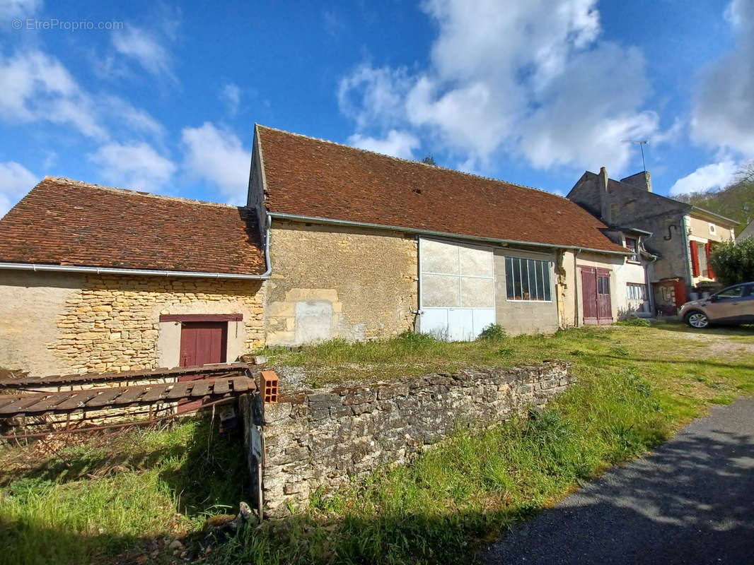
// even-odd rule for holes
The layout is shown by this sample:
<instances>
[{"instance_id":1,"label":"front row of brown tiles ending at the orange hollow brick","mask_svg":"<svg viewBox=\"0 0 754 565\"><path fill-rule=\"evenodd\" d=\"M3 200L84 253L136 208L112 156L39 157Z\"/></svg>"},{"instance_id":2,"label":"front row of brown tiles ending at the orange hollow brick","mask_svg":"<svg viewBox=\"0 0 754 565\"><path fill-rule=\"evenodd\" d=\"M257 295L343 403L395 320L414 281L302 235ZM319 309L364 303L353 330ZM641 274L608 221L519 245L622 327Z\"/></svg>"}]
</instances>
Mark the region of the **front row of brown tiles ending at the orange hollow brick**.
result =
<instances>
[{"instance_id":1,"label":"front row of brown tiles ending at the orange hollow brick","mask_svg":"<svg viewBox=\"0 0 754 565\"><path fill-rule=\"evenodd\" d=\"M159 402L197 400L214 402L256 390L249 377L185 380L133 386L104 386L66 392L0 395L0 418L35 414L68 414L78 410L110 410Z\"/></svg>"}]
</instances>

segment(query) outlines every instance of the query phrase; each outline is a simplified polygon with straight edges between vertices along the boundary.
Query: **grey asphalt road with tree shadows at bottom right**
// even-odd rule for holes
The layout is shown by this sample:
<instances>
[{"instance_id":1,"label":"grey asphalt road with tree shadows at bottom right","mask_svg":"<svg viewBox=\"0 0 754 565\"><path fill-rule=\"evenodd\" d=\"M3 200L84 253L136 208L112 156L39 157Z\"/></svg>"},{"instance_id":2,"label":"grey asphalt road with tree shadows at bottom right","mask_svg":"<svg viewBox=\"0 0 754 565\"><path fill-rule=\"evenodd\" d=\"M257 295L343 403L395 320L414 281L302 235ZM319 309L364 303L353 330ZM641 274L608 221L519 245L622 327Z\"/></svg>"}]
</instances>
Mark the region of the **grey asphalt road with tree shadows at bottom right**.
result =
<instances>
[{"instance_id":1,"label":"grey asphalt road with tree shadows at bottom right","mask_svg":"<svg viewBox=\"0 0 754 565\"><path fill-rule=\"evenodd\" d=\"M713 408L480 554L483 563L754 563L754 399Z\"/></svg>"}]
</instances>

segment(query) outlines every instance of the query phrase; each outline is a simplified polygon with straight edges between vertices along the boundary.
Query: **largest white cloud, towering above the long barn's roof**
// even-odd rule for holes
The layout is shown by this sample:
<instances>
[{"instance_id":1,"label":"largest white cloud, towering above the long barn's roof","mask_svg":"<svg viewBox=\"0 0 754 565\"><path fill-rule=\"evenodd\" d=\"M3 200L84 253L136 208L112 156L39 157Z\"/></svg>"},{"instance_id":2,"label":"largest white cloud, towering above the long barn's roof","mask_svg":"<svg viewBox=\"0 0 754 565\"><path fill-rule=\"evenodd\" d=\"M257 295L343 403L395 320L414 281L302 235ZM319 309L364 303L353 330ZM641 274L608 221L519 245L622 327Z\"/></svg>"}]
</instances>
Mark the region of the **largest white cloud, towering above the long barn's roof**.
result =
<instances>
[{"instance_id":1,"label":"largest white cloud, towering above the long barn's roof","mask_svg":"<svg viewBox=\"0 0 754 565\"><path fill-rule=\"evenodd\" d=\"M504 152L539 168L625 172L658 130L639 50L600 38L596 0L428 0L439 33L431 65L358 67L339 85L357 136L430 136L470 168ZM436 149L437 150L437 149Z\"/></svg>"}]
</instances>

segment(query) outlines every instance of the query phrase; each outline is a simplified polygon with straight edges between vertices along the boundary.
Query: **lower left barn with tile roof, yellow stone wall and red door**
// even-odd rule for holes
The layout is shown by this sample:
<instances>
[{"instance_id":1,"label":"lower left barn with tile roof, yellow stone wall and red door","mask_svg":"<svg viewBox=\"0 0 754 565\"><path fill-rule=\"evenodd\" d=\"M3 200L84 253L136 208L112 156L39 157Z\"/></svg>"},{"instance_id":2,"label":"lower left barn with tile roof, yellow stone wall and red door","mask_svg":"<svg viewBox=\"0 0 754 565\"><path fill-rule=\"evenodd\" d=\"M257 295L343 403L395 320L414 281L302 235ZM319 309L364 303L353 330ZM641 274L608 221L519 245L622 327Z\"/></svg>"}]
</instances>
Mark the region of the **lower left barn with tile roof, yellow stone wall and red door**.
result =
<instances>
[{"instance_id":1,"label":"lower left barn with tile roof, yellow stone wall and red door","mask_svg":"<svg viewBox=\"0 0 754 565\"><path fill-rule=\"evenodd\" d=\"M264 233L244 208L45 177L0 221L0 367L127 371L262 347Z\"/></svg>"}]
</instances>

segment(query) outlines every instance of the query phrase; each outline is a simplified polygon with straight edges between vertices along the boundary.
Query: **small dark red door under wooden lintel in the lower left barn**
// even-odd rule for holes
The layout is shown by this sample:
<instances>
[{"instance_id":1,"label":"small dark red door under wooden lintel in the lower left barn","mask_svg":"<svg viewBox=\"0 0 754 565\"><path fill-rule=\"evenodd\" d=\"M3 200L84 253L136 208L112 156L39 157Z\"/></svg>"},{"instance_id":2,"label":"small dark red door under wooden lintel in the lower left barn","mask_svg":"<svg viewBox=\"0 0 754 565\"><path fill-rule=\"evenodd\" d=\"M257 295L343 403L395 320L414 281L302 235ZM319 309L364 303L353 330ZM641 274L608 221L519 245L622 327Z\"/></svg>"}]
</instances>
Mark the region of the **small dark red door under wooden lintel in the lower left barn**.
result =
<instances>
[{"instance_id":1,"label":"small dark red door under wooden lintel in the lower left barn","mask_svg":"<svg viewBox=\"0 0 754 565\"><path fill-rule=\"evenodd\" d=\"M182 322L181 324L181 367L224 363L228 345L228 322ZM192 380L196 376L178 377L178 380ZM201 406L201 400L179 402L178 411L186 412Z\"/></svg>"}]
</instances>

